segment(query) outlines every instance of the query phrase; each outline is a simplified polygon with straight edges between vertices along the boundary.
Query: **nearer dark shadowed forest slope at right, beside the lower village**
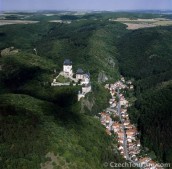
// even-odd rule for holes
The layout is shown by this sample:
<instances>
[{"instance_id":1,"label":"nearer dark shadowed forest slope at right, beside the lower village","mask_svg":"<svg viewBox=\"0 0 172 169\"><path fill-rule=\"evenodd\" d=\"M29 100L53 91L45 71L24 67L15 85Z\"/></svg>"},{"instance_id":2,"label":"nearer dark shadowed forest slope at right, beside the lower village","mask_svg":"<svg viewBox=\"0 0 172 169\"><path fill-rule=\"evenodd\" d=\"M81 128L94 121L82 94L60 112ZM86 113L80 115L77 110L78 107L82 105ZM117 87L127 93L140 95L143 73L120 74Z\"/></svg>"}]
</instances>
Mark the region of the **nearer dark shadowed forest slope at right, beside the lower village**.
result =
<instances>
[{"instance_id":1,"label":"nearer dark shadowed forest slope at right, beside the lower village","mask_svg":"<svg viewBox=\"0 0 172 169\"><path fill-rule=\"evenodd\" d=\"M145 92L136 102L140 112L138 127L142 142L156 153L157 159L164 162L172 161L171 97L172 84L168 82L167 85Z\"/></svg>"}]
</instances>

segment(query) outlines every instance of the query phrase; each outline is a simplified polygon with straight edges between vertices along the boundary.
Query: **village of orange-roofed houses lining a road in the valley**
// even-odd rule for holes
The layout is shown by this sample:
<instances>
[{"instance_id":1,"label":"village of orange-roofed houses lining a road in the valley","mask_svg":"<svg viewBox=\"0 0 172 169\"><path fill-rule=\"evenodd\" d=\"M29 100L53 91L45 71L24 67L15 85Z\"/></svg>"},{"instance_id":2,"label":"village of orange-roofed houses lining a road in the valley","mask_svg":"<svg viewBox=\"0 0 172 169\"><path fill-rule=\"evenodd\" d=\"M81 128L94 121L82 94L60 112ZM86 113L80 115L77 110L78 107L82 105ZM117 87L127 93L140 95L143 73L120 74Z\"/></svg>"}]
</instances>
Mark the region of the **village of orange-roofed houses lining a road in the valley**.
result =
<instances>
[{"instance_id":1,"label":"village of orange-roofed houses lining a road in the valley","mask_svg":"<svg viewBox=\"0 0 172 169\"><path fill-rule=\"evenodd\" d=\"M136 126L130 122L129 114L127 113L127 108L130 104L125 99L124 95L120 93L123 89L132 90L132 82L126 82L122 77L120 81L114 84L106 84L105 88L109 90L112 98L109 100L109 108L99 113L100 121L101 124L105 126L108 135L111 136L113 133L117 135L120 154L139 168L162 168L162 166L153 161L150 157L143 157L140 154L141 144L138 138L139 132Z\"/></svg>"}]
</instances>

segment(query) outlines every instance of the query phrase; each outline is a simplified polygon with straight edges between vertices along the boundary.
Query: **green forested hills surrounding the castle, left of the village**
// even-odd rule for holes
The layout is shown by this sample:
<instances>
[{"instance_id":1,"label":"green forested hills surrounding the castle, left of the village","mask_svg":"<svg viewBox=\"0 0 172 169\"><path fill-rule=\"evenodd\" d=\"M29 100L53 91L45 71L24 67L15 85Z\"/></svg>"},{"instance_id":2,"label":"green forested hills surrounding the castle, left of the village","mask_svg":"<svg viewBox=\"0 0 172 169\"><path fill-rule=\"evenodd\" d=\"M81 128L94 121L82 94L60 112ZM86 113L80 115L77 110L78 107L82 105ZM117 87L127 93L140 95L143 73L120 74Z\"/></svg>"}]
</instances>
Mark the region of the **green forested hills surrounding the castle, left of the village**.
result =
<instances>
[{"instance_id":1,"label":"green forested hills surrounding the castle, left of the village","mask_svg":"<svg viewBox=\"0 0 172 169\"><path fill-rule=\"evenodd\" d=\"M100 19L50 23L44 17L37 24L0 27L0 168L38 169L42 163L101 169L104 162L123 162L94 115L109 99L99 74L110 81L119 77L116 44L126 26ZM80 86L50 86L64 59L72 60L74 71L91 74L93 92L82 111Z\"/></svg>"}]
</instances>

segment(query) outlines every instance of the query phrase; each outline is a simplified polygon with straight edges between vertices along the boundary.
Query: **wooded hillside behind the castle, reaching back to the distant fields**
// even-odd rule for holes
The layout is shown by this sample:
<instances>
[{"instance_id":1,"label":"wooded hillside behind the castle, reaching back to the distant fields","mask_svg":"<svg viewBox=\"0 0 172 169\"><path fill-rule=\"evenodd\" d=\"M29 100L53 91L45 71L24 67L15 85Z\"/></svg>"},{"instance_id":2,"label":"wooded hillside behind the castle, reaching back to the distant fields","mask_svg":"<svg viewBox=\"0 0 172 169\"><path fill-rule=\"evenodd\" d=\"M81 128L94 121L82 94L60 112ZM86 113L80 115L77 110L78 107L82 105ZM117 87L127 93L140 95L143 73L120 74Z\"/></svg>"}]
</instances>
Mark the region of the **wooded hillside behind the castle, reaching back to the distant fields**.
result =
<instances>
[{"instance_id":1,"label":"wooded hillside behind the castle, reaching back to the distant fields","mask_svg":"<svg viewBox=\"0 0 172 169\"><path fill-rule=\"evenodd\" d=\"M12 31L11 27L13 27ZM99 85L104 81L101 77L106 77L109 81L114 81L119 77L118 63L115 59L115 56L118 55L116 44L125 31L125 26L120 23L92 19L72 21L71 24L43 21L31 25L3 26L0 28L2 35L0 49L14 46L24 53L23 57L25 58L30 57L28 54L32 54L32 58L39 57L45 59L45 62L53 63L51 66L49 64L49 68L46 70L49 75L45 76L45 71L42 74L39 70L37 78L34 76L29 82L20 84L17 89L20 90L17 91L19 93L29 93L38 98L42 95L39 91L44 90L41 85L50 83L55 76L54 69L57 73L60 72L64 59L71 59L74 71L83 68L84 71L89 72L95 91L97 89L102 91L99 96L93 93L95 97L93 100L97 100L96 104L101 103L101 106L93 106L91 112L96 114L106 106L102 103L106 104L108 101L104 89ZM35 48L38 56L33 55ZM48 73L46 72L46 74ZM39 94L36 94L38 92Z\"/></svg>"}]
</instances>

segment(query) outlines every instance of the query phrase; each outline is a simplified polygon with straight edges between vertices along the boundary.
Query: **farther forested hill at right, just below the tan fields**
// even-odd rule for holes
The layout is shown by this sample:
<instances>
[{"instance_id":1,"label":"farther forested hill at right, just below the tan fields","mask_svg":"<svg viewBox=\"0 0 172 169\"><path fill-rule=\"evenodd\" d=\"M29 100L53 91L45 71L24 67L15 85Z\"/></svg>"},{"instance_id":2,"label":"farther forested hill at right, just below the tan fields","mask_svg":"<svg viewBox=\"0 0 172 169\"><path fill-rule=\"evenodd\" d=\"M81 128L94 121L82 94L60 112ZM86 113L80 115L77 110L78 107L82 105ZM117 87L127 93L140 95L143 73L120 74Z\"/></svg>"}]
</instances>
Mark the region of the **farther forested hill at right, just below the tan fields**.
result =
<instances>
[{"instance_id":1,"label":"farther forested hill at right, just below the tan fields","mask_svg":"<svg viewBox=\"0 0 172 169\"><path fill-rule=\"evenodd\" d=\"M119 43L122 74L138 80L168 73L172 65L171 32L172 27L157 27L126 34Z\"/></svg>"}]
</instances>

